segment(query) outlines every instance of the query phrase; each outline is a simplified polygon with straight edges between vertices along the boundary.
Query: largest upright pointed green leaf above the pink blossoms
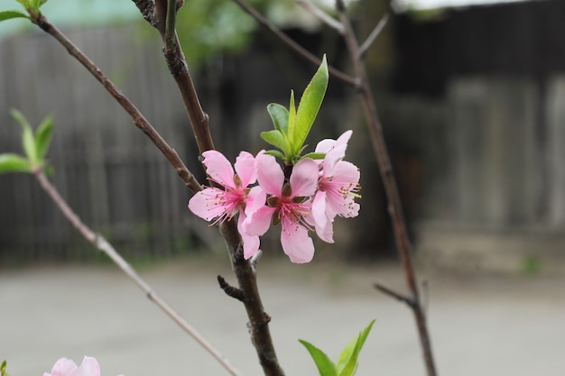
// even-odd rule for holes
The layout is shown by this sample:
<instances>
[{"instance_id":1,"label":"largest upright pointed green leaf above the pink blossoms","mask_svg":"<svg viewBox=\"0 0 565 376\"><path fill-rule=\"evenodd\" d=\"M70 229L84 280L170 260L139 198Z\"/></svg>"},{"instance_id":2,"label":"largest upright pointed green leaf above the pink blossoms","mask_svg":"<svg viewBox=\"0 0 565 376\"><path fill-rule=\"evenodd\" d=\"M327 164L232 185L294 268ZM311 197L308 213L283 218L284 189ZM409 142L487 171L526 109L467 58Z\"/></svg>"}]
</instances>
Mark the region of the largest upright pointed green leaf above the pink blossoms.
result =
<instances>
[{"instance_id":1,"label":"largest upright pointed green leaf above the pink blossoms","mask_svg":"<svg viewBox=\"0 0 565 376\"><path fill-rule=\"evenodd\" d=\"M310 80L308 87L304 90L301 102L298 105L294 132L292 135L289 134L289 139L292 142L294 151L301 148L302 144L306 141L308 133L310 133L310 128L312 127L312 124L314 124L314 120L318 115L321 103L326 95L328 80L328 62L326 61L326 55L324 55L320 68L316 71L316 74Z\"/></svg>"}]
</instances>

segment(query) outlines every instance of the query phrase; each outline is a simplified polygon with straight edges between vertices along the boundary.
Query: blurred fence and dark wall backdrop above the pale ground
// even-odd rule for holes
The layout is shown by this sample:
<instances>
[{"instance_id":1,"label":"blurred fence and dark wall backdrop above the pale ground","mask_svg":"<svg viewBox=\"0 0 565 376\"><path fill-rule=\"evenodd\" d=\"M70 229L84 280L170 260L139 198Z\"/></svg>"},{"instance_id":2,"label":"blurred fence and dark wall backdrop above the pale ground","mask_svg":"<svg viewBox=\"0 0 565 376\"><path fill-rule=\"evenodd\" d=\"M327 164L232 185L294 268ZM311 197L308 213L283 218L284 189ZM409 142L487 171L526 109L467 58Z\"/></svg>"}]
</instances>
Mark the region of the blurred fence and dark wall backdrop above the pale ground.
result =
<instances>
[{"instance_id":1,"label":"blurred fence and dark wall backdrop above the pale ground","mask_svg":"<svg viewBox=\"0 0 565 376\"><path fill-rule=\"evenodd\" d=\"M8 3L1 4L10 8ZM51 0L44 14L115 80L203 179L161 42L133 3L111 3ZM339 35L300 6L251 3L305 48L349 69ZM565 3L477 3L349 3L361 41L392 12L366 66L412 239L422 262L447 268L560 270ZM1 26L0 151L20 151L10 108L32 124L53 114L52 179L88 225L134 259L223 254L216 232L186 209L190 192L104 89L50 36L21 20ZM232 160L240 150L263 149L258 134L272 127L265 106L286 105L290 89L301 93L316 67L228 1L190 2L181 9L179 35L218 149ZM355 131L347 159L362 170L362 210L355 220L338 220L337 243L317 244L319 255L395 257L357 96L332 78L310 147L347 129ZM97 257L31 177L0 177L0 197L2 264ZM266 245L279 247L269 236Z\"/></svg>"}]
</instances>

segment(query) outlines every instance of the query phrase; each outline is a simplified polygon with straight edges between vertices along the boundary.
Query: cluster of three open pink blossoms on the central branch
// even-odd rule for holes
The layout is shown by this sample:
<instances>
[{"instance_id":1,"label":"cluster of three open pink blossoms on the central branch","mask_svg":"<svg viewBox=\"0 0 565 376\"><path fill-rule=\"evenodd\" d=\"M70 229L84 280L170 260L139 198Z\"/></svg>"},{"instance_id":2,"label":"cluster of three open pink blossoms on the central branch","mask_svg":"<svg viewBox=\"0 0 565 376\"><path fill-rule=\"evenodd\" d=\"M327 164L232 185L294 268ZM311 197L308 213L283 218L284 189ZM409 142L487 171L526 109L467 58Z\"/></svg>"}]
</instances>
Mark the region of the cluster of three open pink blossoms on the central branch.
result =
<instances>
[{"instance_id":1,"label":"cluster of three open pink blossoms on the central branch","mask_svg":"<svg viewBox=\"0 0 565 376\"><path fill-rule=\"evenodd\" d=\"M333 243L336 216L358 215L360 173L357 166L343 160L352 131L337 140L322 140L315 154L323 159L302 158L285 177L279 162L265 151L254 157L241 151L234 168L219 151L205 151L202 163L208 179L222 188L207 187L190 198L192 213L212 225L236 215L244 257L257 252L259 237L271 225L281 224L282 250L295 263L314 256L309 231L326 243ZM255 184L256 183L256 184Z\"/></svg>"}]
</instances>

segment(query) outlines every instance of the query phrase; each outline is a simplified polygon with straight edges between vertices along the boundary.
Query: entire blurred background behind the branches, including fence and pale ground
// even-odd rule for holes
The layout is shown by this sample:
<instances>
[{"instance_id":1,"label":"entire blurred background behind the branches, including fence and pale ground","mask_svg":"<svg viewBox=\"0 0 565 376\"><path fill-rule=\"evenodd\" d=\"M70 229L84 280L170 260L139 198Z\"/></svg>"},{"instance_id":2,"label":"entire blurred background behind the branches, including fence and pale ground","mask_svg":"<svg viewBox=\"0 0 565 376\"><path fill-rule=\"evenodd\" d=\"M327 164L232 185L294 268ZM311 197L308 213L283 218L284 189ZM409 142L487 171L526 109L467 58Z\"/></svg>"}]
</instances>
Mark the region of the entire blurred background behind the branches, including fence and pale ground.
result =
<instances>
[{"instance_id":1,"label":"entire blurred background behind the branches, including fence and pale ground","mask_svg":"<svg viewBox=\"0 0 565 376\"><path fill-rule=\"evenodd\" d=\"M350 71L339 35L289 0L250 0L314 54ZM329 12L333 2L320 1ZM0 0L0 10L17 8ZM390 19L366 55L394 164L440 374L558 376L565 369L565 2L357 0L360 41ZM128 0L50 0L57 24L153 123L200 181L190 124L162 42ZM216 145L234 160L266 147L271 102L300 95L317 67L228 0L187 0L179 36ZM21 152L19 109L54 115L51 179L172 307L247 375L261 374L215 228L190 214L190 191L132 120L52 38L0 23L0 152ZM336 243L290 264L263 239L262 297L283 368L316 370L304 338L338 359L377 318L359 374L423 375L374 152L356 92L337 78L309 140L354 134L361 212L336 220ZM40 375L84 354L103 374L225 374L67 223L31 176L0 176L0 362Z\"/></svg>"}]
</instances>

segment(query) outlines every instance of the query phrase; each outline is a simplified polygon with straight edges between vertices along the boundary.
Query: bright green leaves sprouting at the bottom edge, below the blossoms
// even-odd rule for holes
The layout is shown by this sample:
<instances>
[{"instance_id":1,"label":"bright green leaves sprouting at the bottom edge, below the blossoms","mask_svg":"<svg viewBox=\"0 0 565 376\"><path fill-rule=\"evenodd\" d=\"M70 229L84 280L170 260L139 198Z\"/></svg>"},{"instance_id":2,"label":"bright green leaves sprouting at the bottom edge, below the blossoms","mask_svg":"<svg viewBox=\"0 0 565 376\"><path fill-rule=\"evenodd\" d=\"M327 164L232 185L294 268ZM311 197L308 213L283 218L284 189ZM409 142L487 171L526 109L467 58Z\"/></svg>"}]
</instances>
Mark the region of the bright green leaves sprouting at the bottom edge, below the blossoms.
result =
<instances>
[{"instance_id":1,"label":"bright green leaves sprouting at the bottom edge, below the blossoms","mask_svg":"<svg viewBox=\"0 0 565 376\"><path fill-rule=\"evenodd\" d=\"M339 355L338 363L334 363L329 356L318 347L307 341L299 340L306 347L310 356L316 363L320 376L353 376L357 370L357 359L365 344L375 320L371 321L366 328L353 338Z\"/></svg>"}]
</instances>

